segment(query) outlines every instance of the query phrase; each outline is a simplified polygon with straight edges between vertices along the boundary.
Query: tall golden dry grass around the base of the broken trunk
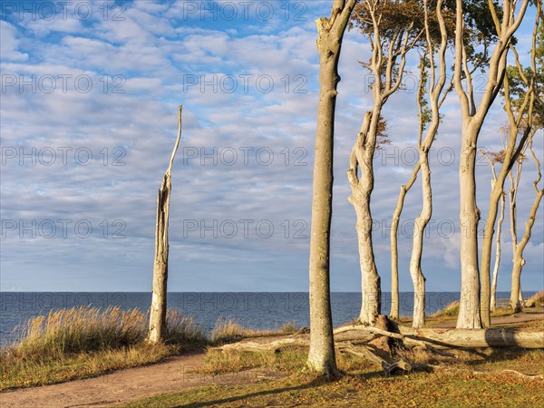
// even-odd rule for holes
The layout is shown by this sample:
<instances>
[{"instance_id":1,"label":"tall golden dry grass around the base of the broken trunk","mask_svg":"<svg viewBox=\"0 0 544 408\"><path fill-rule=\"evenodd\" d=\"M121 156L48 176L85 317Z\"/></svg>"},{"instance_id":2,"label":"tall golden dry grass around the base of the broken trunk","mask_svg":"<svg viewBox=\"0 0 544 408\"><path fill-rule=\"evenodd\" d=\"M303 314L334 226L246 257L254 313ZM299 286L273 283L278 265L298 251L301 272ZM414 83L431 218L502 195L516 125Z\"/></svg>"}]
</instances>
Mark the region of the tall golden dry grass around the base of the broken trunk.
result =
<instances>
[{"instance_id":1,"label":"tall golden dry grass around the base of the broken trunk","mask_svg":"<svg viewBox=\"0 0 544 408\"><path fill-rule=\"evenodd\" d=\"M16 340L0 349L0 390L53 384L160 361L208 344L192 316L167 313L163 345L147 345L148 317L137 309L91 306L51 311L15 328Z\"/></svg>"}]
</instances>

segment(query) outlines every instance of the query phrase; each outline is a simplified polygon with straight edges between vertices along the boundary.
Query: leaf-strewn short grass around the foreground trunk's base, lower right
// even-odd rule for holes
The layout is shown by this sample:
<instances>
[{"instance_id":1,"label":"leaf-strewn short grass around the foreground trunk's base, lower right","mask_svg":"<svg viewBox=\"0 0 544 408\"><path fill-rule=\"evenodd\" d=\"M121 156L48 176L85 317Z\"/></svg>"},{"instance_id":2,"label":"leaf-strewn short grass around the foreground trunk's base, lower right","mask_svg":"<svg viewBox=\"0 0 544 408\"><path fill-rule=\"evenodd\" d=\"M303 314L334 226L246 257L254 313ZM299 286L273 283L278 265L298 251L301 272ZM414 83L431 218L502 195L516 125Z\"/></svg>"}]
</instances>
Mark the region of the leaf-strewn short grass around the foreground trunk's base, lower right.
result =
<instances>
[{"instance_id":1,"label":"leaf-strewn short grass around the foreground trunk's base, lower right","mask_svg":"<svg viewBox=\"0 0 544 408\"><path fill-rule=\"evenodd\" d=\"M275 356L252 353L254 358L296 366L306 361L306 348L288 348ZM458 358L443 362L443 368L432 373L414 372L385 376L383 370L354 358L353 367L345 369L345 376L335 382L316 379L306 373L295 372L268 381L240 381L238 384L212 385L192 388L178 393L154 395L125 405L131 408L164 408L178 406L540 406L544 388L539 380L501 374L503 369L524 374L542 372L544 351L534 350L455 350ZM284 355L285 354L285 355ZM299 354L298 356L296 354ZM284 355L284 356L282 356ZM217 355L219 357L219 355ZM257 357L258 356L258 357ZM413 350L411 357L422 363L434 358L423 350ZM221 358L224 358L221 357ZM235 359L234 355L228 357ZM339 366L344 356L337 355ZM351 357L348 357L351 358ZM244 360L246 359L246 360ZM249 356L240 357L248 361ZM362 362L362 364L361 364ZM475 374L485 372L485 374ZM540 402L540 403L539 403Z\"/></svg>"}]
</instances>

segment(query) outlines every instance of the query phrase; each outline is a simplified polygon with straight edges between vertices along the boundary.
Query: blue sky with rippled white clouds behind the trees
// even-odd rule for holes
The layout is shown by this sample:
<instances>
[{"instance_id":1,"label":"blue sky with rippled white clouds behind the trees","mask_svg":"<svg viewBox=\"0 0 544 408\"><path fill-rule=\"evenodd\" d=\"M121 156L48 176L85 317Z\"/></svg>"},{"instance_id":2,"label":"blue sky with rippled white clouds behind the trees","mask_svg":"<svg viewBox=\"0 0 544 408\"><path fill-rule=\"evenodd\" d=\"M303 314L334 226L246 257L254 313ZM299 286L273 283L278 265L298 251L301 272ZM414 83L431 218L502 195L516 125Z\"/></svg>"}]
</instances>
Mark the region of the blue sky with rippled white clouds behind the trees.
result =
<instances>
[{"instance_id":1,"label":"blue sky with rippled white clouds behind the trees","mask_svg":"<svg viewBox=\"0 0 544 408\"><path fill-rule=\"evenodd\" d=\"M151 291L157 189L176 139L170 198L170 291L306 291L318 54L315 20L330 1L3 1L0 131L2 291ZM534 10L517 34L522 63ZM370 48L345 34L335 121L331 287L359 291L355 211L345 170L371 78ZM448 58L451 59L451 53ZM389 228L416 162L417 52L403 90L384 107L392 140L374 160L374 253L391 287ZM477 99L486 81L475 79ZM431 151L433 214L423 273L430 291L459 291L459 98L444 102ZM479 148L500 149L497 101ZM542 157L542 131L535 152ZM477 163L482 219L491 170ZM522 233L534 199L534 162L518 199ZM508 182L507 182L508 186ZM399 232L401 291L419 180ZM544 287L544 211L525 250L522 288ZM483 227L481 221L481 226ZM494 253L494 252L493 252ZM509 290L510 219L499 290Z\"/></svg>"}]
</instances>

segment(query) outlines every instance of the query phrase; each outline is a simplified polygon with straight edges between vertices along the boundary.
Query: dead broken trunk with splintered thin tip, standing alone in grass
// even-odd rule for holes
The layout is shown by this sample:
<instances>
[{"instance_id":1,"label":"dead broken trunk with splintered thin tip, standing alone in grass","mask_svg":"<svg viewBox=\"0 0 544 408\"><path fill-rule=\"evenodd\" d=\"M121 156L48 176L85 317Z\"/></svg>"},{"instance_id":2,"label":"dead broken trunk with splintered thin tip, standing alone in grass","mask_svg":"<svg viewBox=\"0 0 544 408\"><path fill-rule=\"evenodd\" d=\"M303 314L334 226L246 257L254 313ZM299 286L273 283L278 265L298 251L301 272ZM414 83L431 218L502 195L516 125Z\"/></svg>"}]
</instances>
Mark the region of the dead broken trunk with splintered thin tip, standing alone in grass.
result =
<instances>
[{"instance_id":1,"label":"dead broken trunk with splintered thin tip, standing alone in grass","mask_svg":"<svg viewBox=\"0 0 544 408\"><path fill-rule=\"evenodd\" d=\"M168 281L168 221L170 211L170 173L172 164L178 151L181 138L181 111L178 112L178 138L172 155L170 164L164 173L162 184L160 185L157 197L157 221L155 224L155 261L153 263L153 293L151 297L150 328L148 331L147 342L156 344L163 341L167 335L166 326L166 296Z\"/></svg>"}]
</instances>

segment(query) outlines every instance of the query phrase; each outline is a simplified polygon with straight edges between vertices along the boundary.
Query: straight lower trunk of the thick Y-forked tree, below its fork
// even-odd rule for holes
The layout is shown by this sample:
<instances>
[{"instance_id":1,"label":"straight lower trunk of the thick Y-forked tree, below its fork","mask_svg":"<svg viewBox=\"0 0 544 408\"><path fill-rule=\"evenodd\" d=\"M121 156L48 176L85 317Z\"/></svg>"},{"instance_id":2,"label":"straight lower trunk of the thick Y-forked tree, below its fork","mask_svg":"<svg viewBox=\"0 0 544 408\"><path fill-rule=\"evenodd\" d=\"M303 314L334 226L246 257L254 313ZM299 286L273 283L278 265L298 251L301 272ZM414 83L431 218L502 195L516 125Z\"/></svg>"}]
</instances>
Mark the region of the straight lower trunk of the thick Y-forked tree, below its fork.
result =
<instances>
[{"instance_id":1,"label":"straight lower trunk of the thick Y-forked tree, below its fork","mask_svg":"<svg viewBox=\"0 0 544 408\"><path fill-rule=\"evenodd\" d=\"M480 274L478 269L478 221L476 205L476 140L479 128L463 123L459 166L461 200L461 303L457 328L481 328Z\"/></svg>"}]
</instances>

